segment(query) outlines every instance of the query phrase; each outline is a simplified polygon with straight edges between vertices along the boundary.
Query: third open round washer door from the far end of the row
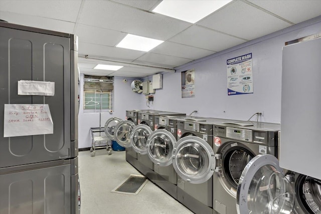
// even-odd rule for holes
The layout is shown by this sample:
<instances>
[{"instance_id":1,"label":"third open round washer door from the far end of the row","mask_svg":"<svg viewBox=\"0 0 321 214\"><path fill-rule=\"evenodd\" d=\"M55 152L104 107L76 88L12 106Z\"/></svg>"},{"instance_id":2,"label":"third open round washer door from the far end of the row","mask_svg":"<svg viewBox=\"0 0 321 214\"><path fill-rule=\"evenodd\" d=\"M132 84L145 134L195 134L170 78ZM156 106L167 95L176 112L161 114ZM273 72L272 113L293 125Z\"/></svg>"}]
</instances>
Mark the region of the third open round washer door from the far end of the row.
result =
<instances>
[{"instance_id":1,"label":"third open round washer door from the far end of the row","mask_svg":"<svg viewBox=\"0 0 321 214\"><path fill-rule=\"evenodd\" d=\"M147 153L147 139L151 132L151 128L144 124L134 127L130 135L130 143L135 152L139 154Z\"/></svg>"}]
</instances>

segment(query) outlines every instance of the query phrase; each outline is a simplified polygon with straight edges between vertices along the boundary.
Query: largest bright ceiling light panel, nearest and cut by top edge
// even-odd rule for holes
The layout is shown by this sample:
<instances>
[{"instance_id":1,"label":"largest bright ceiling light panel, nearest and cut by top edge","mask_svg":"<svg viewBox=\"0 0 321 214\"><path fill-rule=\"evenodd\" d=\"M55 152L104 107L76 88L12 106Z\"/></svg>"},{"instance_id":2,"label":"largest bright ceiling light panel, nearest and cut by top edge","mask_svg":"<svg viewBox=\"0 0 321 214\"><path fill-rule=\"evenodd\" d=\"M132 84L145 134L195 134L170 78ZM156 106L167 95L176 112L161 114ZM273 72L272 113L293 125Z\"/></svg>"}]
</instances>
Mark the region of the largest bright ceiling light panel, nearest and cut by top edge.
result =
<instances>
[{"instance_id":1,"label":"largest bright ceiling light panel, nearest and cut by top edge","mask_svg":"<svg viewBox=\"0 0 321 214\"><path fill-rule=\"evenodd\" d=\"M232 0L166 0L152 11L189 23L196 23Z\"/></svg>"}]
</instances>

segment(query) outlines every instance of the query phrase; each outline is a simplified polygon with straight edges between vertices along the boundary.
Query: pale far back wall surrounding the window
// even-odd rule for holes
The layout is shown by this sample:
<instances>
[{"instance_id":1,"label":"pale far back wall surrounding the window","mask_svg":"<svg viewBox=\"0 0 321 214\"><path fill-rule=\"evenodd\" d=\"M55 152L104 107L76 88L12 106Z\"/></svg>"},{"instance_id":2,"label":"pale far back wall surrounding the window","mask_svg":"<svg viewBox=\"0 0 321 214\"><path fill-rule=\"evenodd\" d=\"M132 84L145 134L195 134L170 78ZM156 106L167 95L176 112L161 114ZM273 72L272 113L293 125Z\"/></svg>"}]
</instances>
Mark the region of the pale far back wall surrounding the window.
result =
<instances>
[{"instance_id":1,"label":"pale far back wall surrounding the window","mask_svg":"<svg viewBox=\"0 0 321 214\"><path fill-rule=\"evenodd\" d=\"M114 99L113 99L113 113L101 113L101 126L111 117L119 117L125 119L126 110L140 109L140 94L135 94L130 89L131 78L126 78L124 83L122 77L114 78ZM80 108L78 114L78 144L79 148L91 147L90 128L99 127L99 111L95 113L86 113L83 109L83 87L84 75L80 75Z\"/></svg>"}]
</instances>

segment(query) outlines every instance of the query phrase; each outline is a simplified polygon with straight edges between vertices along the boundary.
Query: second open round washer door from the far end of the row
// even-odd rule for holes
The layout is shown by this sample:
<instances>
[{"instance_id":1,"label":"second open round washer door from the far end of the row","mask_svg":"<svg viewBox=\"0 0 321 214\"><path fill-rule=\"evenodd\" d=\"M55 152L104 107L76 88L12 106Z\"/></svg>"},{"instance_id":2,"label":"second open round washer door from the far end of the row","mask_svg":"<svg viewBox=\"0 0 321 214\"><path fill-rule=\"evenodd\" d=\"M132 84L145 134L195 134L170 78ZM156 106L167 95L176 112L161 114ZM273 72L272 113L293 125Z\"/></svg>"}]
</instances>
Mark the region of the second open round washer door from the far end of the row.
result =
<instances>
[{"instance_id":1,"label":"second open round washer door from the far end of the row","mask_svg":"<svg viewBox=\"0 0 321 214\"><path fill-rule=\"evenodd\" d=\"M129 120L119 122L115 127L114 137L116 142L122 147L130 147L130 134L135 124Z\"/></svg>"}]
</instances>

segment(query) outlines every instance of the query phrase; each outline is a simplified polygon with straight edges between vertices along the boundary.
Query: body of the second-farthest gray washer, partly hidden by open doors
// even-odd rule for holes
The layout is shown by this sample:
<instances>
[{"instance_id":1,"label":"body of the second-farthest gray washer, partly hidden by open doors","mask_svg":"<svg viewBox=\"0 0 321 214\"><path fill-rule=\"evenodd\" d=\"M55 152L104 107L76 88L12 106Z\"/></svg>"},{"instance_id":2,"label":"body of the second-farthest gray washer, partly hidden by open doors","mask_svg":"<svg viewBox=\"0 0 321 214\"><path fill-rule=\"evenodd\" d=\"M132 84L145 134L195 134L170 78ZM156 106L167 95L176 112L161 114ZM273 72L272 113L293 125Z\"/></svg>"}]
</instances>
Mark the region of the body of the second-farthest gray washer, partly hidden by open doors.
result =
<instances>
[{"instance_id":1,"label":"body of the second-farthest gray washer, partly hidden by open doors","mask_svg":"<svg viewBox=\"0 0 321 214\"><path fill-rule=\"evenodd\" d=\"M167 111L158 111L158 110L148 110L138 113L138 124L144 124L150 127L150 129L153 131L155 129L155 116L162 116L162 115L170 115L170 116L184 116L186 114L184 113L177 113L177 112L167 112ZM135 142L134 142L135 144ZM151 180L154 180L152 174L154 171L154 163L149 159L147 155L147 145L143 150L141 150L137 154L137 160L138 164L141 165L141 168L144 168L141 172L146 175L148 172L152 172L148 178ZM146 173L146 174L145 174Z\"/></svg>"}]
</instances>

